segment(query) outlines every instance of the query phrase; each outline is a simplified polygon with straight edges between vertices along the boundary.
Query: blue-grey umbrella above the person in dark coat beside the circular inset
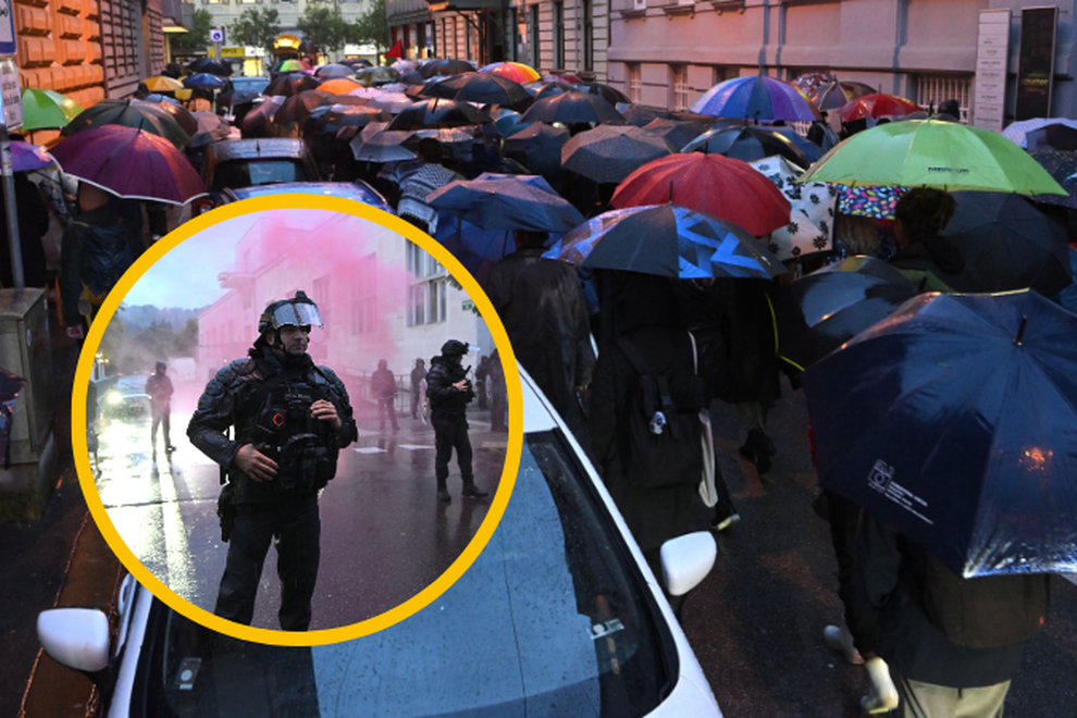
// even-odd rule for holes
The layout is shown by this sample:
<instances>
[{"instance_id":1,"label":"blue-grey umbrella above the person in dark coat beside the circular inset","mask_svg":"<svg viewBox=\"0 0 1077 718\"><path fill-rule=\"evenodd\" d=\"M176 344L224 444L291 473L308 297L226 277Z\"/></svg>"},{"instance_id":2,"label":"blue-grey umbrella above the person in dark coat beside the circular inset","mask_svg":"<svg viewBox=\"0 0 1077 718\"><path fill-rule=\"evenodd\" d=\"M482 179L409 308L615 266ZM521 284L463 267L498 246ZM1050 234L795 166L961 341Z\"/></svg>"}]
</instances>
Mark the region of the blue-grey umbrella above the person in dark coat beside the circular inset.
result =
<instances>
[{"instance_id":1,"label":"blue-grey umbrella above the person in dark coat beside the circular inset","mask_svg":"<svg viewBox=\"0 0 1077 718\"><path fill-rule=\"evenodd\" d=\"M584 222L578 209L535 175L484 173L457 180L426 195L426 203L480 230L564 234Z\"/></svg>"}]
</instances>

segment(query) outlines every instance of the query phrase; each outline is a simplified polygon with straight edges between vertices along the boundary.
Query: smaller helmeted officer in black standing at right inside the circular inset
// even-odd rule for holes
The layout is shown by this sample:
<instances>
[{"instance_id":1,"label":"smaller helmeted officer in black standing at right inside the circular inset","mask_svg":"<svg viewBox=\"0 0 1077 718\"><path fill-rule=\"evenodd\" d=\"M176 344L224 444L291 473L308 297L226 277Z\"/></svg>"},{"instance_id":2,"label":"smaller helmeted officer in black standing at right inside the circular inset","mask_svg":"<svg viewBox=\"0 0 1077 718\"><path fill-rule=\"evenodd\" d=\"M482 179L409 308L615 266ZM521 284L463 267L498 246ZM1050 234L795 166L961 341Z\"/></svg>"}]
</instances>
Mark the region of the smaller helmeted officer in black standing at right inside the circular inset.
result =
<instances>
[{"instance_id":1,"label":"smaller helmeted officer in black standing at right inside the circular inset","mask_svg":"<svg viewBox=\"0 0 1077 718\"><path fill-rule=\"evenodd\" d=\"M456 461L463 480L463 496L482 498L487 492L475 486L472 467L471 440L468 437L467 407L475 393L463 368L468 345L449 339L442 345L442 354L430 360L426 374L426 396L430 398L430 423L434 425L434 475L437 480L437 499L453 500L448 493L448 462L456 449Z\"/></svg>"}]
</instances>

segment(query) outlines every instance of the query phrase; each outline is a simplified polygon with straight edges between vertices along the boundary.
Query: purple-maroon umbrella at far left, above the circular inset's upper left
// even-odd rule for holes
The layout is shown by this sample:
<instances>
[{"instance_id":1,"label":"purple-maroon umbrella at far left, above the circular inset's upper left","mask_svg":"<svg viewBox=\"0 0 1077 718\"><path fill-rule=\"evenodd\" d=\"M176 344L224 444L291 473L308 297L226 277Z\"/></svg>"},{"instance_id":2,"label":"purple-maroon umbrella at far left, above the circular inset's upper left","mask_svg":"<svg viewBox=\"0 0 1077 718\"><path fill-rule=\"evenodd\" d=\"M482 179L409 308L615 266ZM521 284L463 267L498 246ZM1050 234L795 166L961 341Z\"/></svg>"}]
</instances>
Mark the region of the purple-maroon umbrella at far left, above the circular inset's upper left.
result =
<instances>
[{"instance_id":1,"label":"purple-maroon umbrella at far left, above the circular inset's upper left","mask_svg":"<svg viewBox=\"0 0 1077 718\"><path fill-rule=\"evenodd\" d=\"M52 157L66 174L120 197L183 205L206 191L187 158L144 129L86 129L58 143Z\"/></svg>"}]
</instances>

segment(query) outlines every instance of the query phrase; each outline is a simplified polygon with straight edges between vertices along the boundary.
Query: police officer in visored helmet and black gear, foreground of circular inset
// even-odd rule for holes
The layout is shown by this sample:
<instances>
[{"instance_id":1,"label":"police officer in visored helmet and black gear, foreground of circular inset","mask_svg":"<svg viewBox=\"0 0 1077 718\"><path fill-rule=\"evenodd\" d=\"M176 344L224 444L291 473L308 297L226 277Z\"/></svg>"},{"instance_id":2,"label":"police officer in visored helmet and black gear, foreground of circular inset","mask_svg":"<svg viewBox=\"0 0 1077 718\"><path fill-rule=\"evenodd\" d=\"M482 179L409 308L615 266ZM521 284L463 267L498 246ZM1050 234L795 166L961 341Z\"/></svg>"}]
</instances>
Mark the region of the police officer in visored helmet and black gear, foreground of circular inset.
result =
<instances>
[{"instance_id":1,"label":"police officer in visored helmet and black gear, foreground of circular inset","mask_svg":"<svg viewBox=\"0 0 1077 718\"><path fill-rule=\"evenodd\" d=\"M250 624L275 537L281 628L310 626L318 493L336 473L338 450L358 436L344 383L307 354L311 326L322 321L304 292L269 305L247 358L210 380L187 428L191 444L227 471L219 510L228 557L213 612L237 623Z\"/></svg>"}]
</instances>

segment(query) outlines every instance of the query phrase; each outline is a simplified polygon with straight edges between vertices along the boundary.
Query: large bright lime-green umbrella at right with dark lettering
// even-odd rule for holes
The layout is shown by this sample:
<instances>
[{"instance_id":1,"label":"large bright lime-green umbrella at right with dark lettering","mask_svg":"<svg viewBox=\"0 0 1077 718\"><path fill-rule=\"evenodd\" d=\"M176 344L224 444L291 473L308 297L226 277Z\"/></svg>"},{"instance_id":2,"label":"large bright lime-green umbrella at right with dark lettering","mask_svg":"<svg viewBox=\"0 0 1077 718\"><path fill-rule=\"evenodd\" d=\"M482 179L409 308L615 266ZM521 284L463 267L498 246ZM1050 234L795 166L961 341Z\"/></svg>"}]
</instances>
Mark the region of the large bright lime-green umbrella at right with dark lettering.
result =
<instances>
[{"instance_id":1,"label":"large bright lime-green umbrella at right with dark lettering","mask_svg":"<svg viewBox=\"0 0 1077 718\"><path fill-rule=\"evenodd\" d=\"M942 120L888 122L824 154L797 182L1065 194L1039 163L993 132Z\"/></svg>"}]
</instances>

